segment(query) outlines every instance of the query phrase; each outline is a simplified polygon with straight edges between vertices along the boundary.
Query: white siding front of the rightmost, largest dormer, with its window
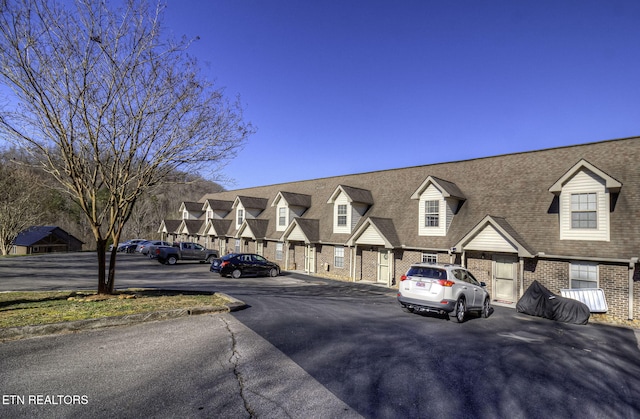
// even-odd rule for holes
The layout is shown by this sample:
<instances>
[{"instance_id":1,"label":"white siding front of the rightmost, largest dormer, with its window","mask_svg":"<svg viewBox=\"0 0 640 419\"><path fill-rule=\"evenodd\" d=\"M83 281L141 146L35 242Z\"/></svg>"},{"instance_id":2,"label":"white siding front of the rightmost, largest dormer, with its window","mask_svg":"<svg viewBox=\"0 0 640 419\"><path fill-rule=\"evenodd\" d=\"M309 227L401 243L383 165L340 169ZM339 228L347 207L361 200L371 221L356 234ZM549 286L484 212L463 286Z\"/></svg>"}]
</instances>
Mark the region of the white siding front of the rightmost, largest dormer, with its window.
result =
<instances>
[{"instance_id":1,"label":"white siding front of the rightmost, largest dormer, with its window","mask_svg":"<svg viewBox=\"0 0 640 419\"><path fill-rule=\"evenodd\" d=\"M583 215L574 215L577 209ZM595 215L590 211L595 211ZM576 219L582 221L576 223ZM576 173L562 187L560 240L609 241L609 193L604 180L589 170Z\"/></svg>"}]
</instances>

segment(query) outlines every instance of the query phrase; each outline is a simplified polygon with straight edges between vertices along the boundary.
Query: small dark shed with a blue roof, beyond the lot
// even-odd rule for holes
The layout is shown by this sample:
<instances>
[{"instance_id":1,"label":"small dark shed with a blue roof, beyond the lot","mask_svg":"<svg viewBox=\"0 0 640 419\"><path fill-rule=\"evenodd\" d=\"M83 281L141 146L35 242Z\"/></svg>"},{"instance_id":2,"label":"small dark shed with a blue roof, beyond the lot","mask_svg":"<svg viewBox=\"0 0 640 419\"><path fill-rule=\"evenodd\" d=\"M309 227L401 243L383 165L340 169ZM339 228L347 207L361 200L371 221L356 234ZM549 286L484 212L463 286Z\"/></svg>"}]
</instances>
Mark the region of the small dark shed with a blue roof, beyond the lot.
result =
<instances>
[{"instance_id":1,"label":"small dark shed with a blue roof, beyond the lot","mask_svg":"<svg viewBox=\"0 0 640 419\"><path fill-rule=\"evenodd\" d=\"M31 255L52 252L80 252L84 243L57 226L32 226L13 241L11 253Z\"/></svg>"}]
</instances>

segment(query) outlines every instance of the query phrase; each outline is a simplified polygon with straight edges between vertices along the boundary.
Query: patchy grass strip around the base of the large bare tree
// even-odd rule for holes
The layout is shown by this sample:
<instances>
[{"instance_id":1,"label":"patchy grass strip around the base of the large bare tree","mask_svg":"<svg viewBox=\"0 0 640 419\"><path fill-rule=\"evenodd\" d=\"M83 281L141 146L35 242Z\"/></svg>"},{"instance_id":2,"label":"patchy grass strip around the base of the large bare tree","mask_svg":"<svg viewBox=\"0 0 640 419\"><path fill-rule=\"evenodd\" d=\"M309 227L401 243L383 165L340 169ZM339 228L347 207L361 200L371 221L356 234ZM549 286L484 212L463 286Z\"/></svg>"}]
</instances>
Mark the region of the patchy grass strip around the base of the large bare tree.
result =
<instances>
[{"instance_id":1,"label":"patchy grass strip around the base of the large bare tree","mask_svg":"<svg viewBox=\"0 0 640 419\"><path fill-rule=\"evenodd\" d=\"M222 306L228 302L224 296L210 292L150 289L120 290L114 295L92 291L2 292L0 328Z\"/></svg>"}]
</instances>

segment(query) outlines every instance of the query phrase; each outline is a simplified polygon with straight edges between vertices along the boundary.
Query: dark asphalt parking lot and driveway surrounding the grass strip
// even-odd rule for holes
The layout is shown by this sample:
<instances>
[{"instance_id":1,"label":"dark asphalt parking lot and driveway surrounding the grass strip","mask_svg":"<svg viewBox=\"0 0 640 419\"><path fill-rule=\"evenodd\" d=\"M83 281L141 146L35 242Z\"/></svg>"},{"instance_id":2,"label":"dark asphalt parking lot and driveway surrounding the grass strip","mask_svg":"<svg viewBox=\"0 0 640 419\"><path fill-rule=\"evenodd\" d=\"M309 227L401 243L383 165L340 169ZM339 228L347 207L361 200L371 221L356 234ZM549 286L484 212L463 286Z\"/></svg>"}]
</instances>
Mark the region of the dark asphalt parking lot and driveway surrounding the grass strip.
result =
<instances>
[{"instance_id":1,"label":"dark asphalt parking lot and driveway surrounding the grass strip","mask_svg":"<svg viewBox=\"0 0 640 419\"><path fill-rule=\"evenodd\" d=\"M96 281L89 254L72 259L59 255L19 259L0 259L3 289L86 289ZM148 328L141 325L0 344L0 358L4 360L0 367L10 378L6 381L9 387L3 387L5 394L24 394L33 389L45 394L75 391L78 387L71 384L75 377L71 365L75 364L53 370L48 364L47 354L57 348L60 354L75 351L84 357L78 363L86 375L82 388L90 392L95 403L91 413L98 417L127 416L125 406L133 406L130 412L134 413L129 416L162 417L168 413L219 417L227 413L231 416L226 417L242 417L237 412L259 409L258 400L267 398L272 401L271 407L274 400L295 400L295 409L299 410L295 414L293 410L279 410L278 415L260 410L262 415L253 417L640 417L640 397L634 390L640 386L640 349L635 330L561 324L504 307L495 307L488 319L471 317L458 324L438 316L404 313L395 301L395 292L387 288L294 273L233 280L211 274L205 265L163 266L137 255L123 257L121 268L119 287L213 290L246 302L247 308L225 315L155 322ZM5 272L9 276L2 276ZM228 319L229 328L220 323L223 318ZM142 331L147 329L153 329L148 335L153 338L145 337ZM185 331L185 344L175 334L181 329ZM216 334L212 335L214 330ZM233 331L240 334L234 335ZM98 363L93 365L95 345L81 342L97 335L98 347L105 352L100 352ZM248 338L242 339L241 335ZM218 361L211 363L207 359L212 351L221 350L211 346L218 340L228 342L226 352L216 355ZM255 345L263 349L256 352L251 349ZM135 360L145 359L139 358L140 353L158 355L145 360L148 369L138 370ZM130 384L122 383L123 392L114 394L117 374L105 374L109 368L104 365L116 365L121 359L131 360L123 365L133 372L127 374ZM229 367L223 360L234 360L236 367ZM29 365L34 371L51 375L46 381L38 381L35 372L25 375ZM221 375L218 368L222 366L226 373ZM293 371L291 366L311 380L311 393L284 385L290 382L287 371ZM212 394L206 393L207 389L214 388L221 376L232 380L225 387L239 393L232 392L225 400L248 403L249 409L238 404L224 406L213 399L207 399L210 404L202 398L188 402L184 394L175 393L176 385L171 380L174 368L181 383L189 382L190 375L196 377L195 387L185 387L193 394ZM183 375L180 370L190 373ZM141 375L138 377L135 371ZM147 387L144 377L158 376L152 371L162 371L162 380ZM105 374L104 383L92 384L90 376L100 374ZM21 378L25 376L31 380ZM267 377L268 392L261 385ZM142 383L146 383L144 400L135 396ZM243 393L243 388L250 390ZM316 391L333 395L333 407L323 411L316 406L316 410L310 407L306 411L304 400L315 400ZM103 393L111 397L101 398ZM258 397L243 397L248 393ZM145 401L162 404L165 410L149 410ZM76 410L79 416L86 415L78 412L87 413Z\"/></svg>"}]
</instances>

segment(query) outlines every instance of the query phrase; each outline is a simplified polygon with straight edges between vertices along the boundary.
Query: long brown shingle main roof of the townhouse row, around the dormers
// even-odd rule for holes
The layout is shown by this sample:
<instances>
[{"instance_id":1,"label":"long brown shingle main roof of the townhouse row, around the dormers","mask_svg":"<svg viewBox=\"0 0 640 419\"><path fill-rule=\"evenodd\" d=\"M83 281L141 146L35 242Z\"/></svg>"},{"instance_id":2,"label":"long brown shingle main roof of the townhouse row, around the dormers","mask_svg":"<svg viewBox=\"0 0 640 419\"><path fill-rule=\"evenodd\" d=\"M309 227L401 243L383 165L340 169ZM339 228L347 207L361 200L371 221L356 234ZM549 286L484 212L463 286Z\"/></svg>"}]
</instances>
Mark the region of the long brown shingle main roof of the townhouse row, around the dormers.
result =
<instances>
[{"instance_id":1,"label":"long brown shingle main roof of the townhouse row, around the dormers","mask_svg":"<svg viewBox=\"0 0 640 419\"><path fill-rule=\"evenodd\" d=\"M611 239L608 242L560 240L557 197L549 188L582 159L622 183L610 213ZM304 219L318 220L323 243L346 243L350 235L334 234L333 205L327 204L339 186L351 199L372 204L367 217L392 220L402 246L417 249L449 249L467 235L487 215L504 220L514 237L527 248L548 255L606 258L637 257L640 253L640 138L627 138L568 147L514 153L473 160L359 173L286 184L266 185L207 194L203 199L233 200L238 196L273 200L279 192L310 195L314 202ZM454 185L462 195L446 237L418 236L418 201L411 195L432 176L438 183ZM345 187L344 185L348 185ZM453 188L453 187L451 187ZM347 192L347 189L349 192ZM359 191L359 192L357 192ZM366 192L361 192L366 191ZM243 201L244 205L244 201ZM275 208L264 206L260 219L275 220ZM230 219L235 214L228 215ZM502 223L502 222L501 222ZM356 226L357 228L357 226ZM355 231L355 229L354 229ZM265 237L278 240L275 222Z\"/></svg>"}]
</instances>

